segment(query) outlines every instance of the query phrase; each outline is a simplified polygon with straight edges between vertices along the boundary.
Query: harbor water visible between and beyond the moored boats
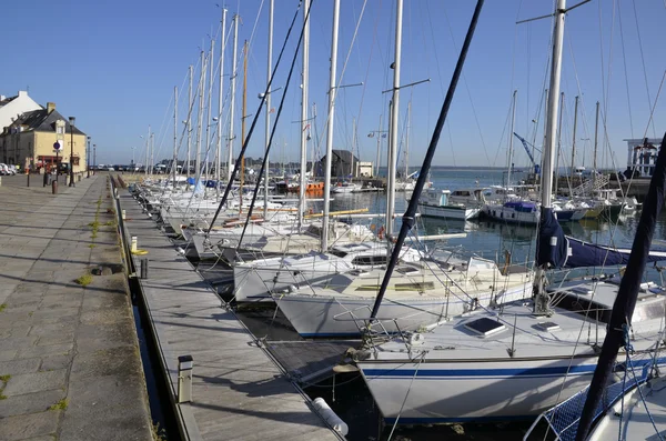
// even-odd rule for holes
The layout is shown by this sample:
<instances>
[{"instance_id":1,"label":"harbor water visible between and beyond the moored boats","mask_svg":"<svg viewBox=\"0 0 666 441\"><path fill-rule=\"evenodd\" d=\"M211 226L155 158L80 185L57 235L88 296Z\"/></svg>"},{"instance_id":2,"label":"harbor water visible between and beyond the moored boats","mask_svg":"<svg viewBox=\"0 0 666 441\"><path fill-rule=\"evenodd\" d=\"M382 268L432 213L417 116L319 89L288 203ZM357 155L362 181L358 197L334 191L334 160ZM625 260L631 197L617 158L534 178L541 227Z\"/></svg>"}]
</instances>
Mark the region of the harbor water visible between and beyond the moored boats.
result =
<instances>
[{"instance_id":1,"label":"harbor water visible between and beyond the moored boats","mask_svg":"<svg viewBox=\"0 0 666 441\"><path fill-rule=\"evenodd\" d=\"M505 179L502 169L472 169L434 167L431 181L436 189L471 189L502 184ZM522 179L519 173L513 173L516 179ZM523 177L525 177L523 174ZM512 179L513 180L513 179ZM411 193L397 193L395 212L404 212ZM385 192L364 192L333 194L331 211L367 209L369 213L385 213ZM307 208L314 212L322 210L321 201L311 201ZM620 216L616 219L601 219L581 222L563 223L566 234L585 240L591 243L609 244L617 248L630 248L638 223L638 213ZM362 220L366 224L379 228L384 223L383 218ZM396 221L400 228L400 218ZM466 237L450 239L437 247L458 250L465 254L495 260L503 264L507 259L513 263L527 263L534 260L536 245L536 227L503 224L487 220L452 221L445 219L420 218L417 222L418 235L465 232ZM655 248L662 245L666 232L666 217L659 219L655 233ZM201 262L201 273L212 283L223 285L229 273L220 265ZM608 272L609 269L589 268L578 275L598 274ZM571 275L571 274L569 274ZM658 279L659 272L655 268L648 271L648 278ZM291 329L289 322L275 308L242 311L241 320L256 337L268 340L284 341L300 340L301 338ZM352 344L350 344L352 345ZM347 439L386 440L391 427L381 424L381 415L373 399L365 387L360 373L344 373L335 375L317 384L307 384L305 388L310 397L322 397L331 408L349 424ZM465 424L447 427L398 427L392 440L505 440L522 439L531 422L512 422L501 424Z\"/></svg>"}]
</instances>

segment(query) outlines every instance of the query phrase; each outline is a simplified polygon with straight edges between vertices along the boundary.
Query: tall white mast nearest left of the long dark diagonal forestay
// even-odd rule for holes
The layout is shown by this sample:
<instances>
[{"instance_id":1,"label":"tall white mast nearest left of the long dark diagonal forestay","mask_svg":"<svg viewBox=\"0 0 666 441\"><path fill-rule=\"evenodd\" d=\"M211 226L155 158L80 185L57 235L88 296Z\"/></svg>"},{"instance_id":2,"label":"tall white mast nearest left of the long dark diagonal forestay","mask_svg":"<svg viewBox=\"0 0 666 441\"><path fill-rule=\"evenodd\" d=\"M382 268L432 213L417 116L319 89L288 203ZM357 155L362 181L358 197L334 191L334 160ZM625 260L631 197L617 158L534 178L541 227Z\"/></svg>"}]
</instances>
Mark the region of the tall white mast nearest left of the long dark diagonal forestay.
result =
<instances>
[{"instance_id":1,"label":"tall white mast nearest left of the long dark diagonal forestay","mask_svg":"<svg viewBox=\"0 0 666 441\"><path fill-rule=\"evenodd\" d=\"M393 60L393 98L391 99L391 123L389 140L389 172L386 181L386 238L393 234L393 214L395 212L395 171L397 162L397 118L400 111L400 58L402 50L403 0L396 0L395 13L395 54Z\"/></svg>"}]
</instances>

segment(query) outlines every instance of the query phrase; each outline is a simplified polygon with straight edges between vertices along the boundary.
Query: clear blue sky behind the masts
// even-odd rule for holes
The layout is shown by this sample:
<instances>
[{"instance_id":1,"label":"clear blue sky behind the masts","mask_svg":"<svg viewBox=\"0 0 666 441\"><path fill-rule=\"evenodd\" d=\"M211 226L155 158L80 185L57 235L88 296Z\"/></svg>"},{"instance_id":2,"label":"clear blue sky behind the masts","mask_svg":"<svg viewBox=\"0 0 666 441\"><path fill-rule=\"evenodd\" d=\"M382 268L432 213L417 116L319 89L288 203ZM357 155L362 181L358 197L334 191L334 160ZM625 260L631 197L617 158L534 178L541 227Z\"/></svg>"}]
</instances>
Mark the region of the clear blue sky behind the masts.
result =
<instances>
[{"instance_id":1,"label":"clear blue sky behind the masts","mask_svg":"<svg viewBox=\"0 0 666 441\"><path fill-rule=\"evenodd\" d=\"M275 3L274 61L297 1L275 0ZM376 138L369 138L367 133L379 128L381 114L384 116L385 129L389 114L389 94L382 94L382 90L390 89L392 84L389 64L393 61L394 3L391 0L367 1L356 40L350 49L363 1L342 1L337 73L342 72L349 53L341 82L363 81L364 86L343 89L339 94L334 148L351 147L352 121L355 118L363 160L374 161ZM465 78L458 86L440 141L436 164L505 164L505 130L514 89L518 90L516 131L535 139L535 143L541 146L543 110L539 111L539 106L543 108L552 21L545 19L519 26L515 21L547 14L552 12L552 3L486 1L465 64ZM569 3L573 4L572 1ZM226 8L228 29L234 13L242 17L240 44L250 39L259 20L248 61L248 113L255 113L259 104L256 96L265 87L268 1L235 1L226 3ZM404 2L401 83L426 78L432 80L413 89L403 89L401 94L401 134L407 102L412 102L410 162L413 166L420 163L427 147L473 8L473 1ZM221 9L215 1L70 0L43 1L38 7L11 2L3 10L0 41L7 44L0 69L0 93L11 96L29 88L36 101L41 104L53 101L65 117L77 117L77 124L98 146L98 163L129 163L132 148L137 148L137 162L143 162L144 141L139 137L145 134L149 124L157 133L155 160L172 154L173 87L178 86L184 92L179 100L179 120L182 120L186 112L186 90L182 86L185 84L188 67L198 67L200 48L203 46L208 50L209 34L219 33ZM315 134L319 134L322 138L320 152L324 150L332 10L332 1L314 0L311 16L310 102L316 103L317 108L317 132L312 132L311 148L316 140ZM623 139L642 138L646 132L649 110L666 68L666 46L660 32L665 18L662 0L594 0L567 16L562 79L566 100L562 142L566 158L571 156L574 97L581 94L577 143L584 154L577 156L578 164L583 161L586 166L592 163L592 143L581 139L594 138L594 107L598 100L607 133L607 137L604 136L604 128L599 130L599 163L609 164L610 147L618 168L624 169L626 144ZM302 18L297 23L302 23ZM642 44L636 23L640 27ZM287 44L275 79L276 87L285 86L299 31L300 28ZM215 60L219 58L219 41ZM625 64L628 77L625 76ZM300 119L300 66L299 57L278 127L273 159L295 160L299 154L300 129L292 121ZM231 41L224 69L225 72L231 70ZM196 71L195 83L198 76ZM236 98L239 118L241 84L242 69ZM229 78L225 78L224 89L229 90ZM647 89L652 101L648 101ZM214 110L218 108L216 90L215 84ZM281 93L273 94L272 107L278 108ZM665 102L663 97L657 102L655 130L649 127L649 137L656 134L660 138L666 129ZM224 106L226 113L229 103ZM250 123L251 118L246 122ZM239 133L240 120L235 126ZM250 144L248 154L251 157L262 156L263 127L262 116ZM538 129L536 134L535 128ZM235 151L239 148L240 142L236 141ZM385 144L383 149L386 149ZM182 158L184 147L180 151ZM385 157L384 152L384 160ZM522 149L517 150L515 162L527 164Z\"/></svg>"}]
</instances>

